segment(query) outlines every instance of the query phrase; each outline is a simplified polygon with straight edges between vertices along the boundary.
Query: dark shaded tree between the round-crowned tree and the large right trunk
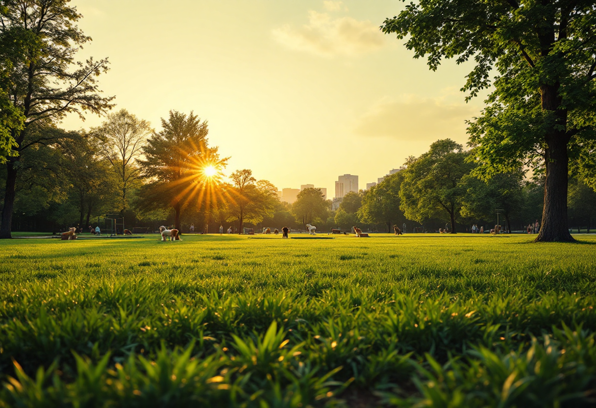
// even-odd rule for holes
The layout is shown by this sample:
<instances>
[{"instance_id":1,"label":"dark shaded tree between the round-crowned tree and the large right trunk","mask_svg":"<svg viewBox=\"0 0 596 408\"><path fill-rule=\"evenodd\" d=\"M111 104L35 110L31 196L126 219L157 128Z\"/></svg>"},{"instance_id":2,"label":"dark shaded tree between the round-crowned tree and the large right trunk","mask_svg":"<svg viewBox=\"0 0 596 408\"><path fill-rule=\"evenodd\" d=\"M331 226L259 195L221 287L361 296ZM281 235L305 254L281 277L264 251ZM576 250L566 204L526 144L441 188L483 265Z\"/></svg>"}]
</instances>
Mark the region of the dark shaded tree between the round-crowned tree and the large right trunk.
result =
<instances>
[{"instance_id":1,"label":"dark shaded tree between the round-crowned tree and the large right trunk","mask_svg":"<svg viewBox=\"0 0 596 408\"><path fill-rule=\"evenodd\" d=\"M488 180L481 180L474 175L465 175L462 188L462 217L492 218L497 210L507 222L507 231L511 232L511 217L519 214L523 206L523 180L521 169L515 172L499 173Z\"/></svg>"}]
</instances>

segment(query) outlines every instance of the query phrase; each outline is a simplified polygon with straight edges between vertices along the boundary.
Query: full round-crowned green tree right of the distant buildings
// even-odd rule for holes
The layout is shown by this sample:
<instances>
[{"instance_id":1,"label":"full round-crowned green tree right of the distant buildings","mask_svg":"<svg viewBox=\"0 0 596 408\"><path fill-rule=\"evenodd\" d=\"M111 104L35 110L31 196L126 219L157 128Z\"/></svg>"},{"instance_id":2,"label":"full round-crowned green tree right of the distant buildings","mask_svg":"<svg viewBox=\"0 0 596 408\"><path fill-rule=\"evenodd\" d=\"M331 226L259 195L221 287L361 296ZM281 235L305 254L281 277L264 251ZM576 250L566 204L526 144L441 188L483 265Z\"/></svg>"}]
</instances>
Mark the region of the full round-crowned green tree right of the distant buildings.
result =
<instances>
[{"instance_id":1,"label":"full round-crowned green tree right of the distant buildings","mask_svg":"<svg viewBox=\"0 0 596 408\"><path fill-rule=\"evenodd\" d=\"M411 220L443 218L451 222L455 234L455 220L460 216L465 190L460 181L473 168L466 162L468 153L451 139L438 140L430 150L406 163L399 190L400 208ZM382 184L382 183L381 183ZM447 215L447 217L445 217Z\"/></svg>"}]
</instances>

